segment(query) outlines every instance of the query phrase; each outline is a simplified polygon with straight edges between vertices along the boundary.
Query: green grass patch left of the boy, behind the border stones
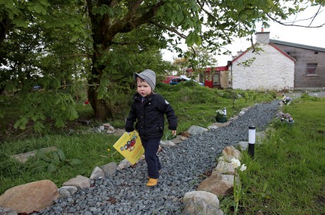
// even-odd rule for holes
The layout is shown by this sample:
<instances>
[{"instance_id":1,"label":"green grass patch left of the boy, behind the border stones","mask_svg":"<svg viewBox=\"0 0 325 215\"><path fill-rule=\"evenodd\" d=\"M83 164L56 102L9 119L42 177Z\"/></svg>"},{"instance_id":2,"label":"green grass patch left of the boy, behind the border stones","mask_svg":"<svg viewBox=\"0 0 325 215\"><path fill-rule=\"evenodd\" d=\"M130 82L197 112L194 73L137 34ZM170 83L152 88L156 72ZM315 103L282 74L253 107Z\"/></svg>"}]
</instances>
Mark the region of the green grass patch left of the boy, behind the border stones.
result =
<instances>
[{"instance_id":1,"label":"green grass patch left of the boy, behind the border stones","mask_svg":"<svg viewBox=\"0 0 325 215\"><path fill-rule=\"evenodd\" d=\"M45 137L30 138L18 142L4 142L1 145L0 171L1 192L15 185L32 182L35 180L50 179L61 187L69 178L78 175L89 177L95 166L102 166L111 161L121 160L118 153L107 152L119 137L100 133L73 133L72 135L46 135ZM66 159L81 159L81 165L70 166L60 164L58 171L48 173L46 170L40 173L31 173L28 164L20 164L11 158L12 154L29 152L42 147L56 146L62 149ZM106 157L104 157L106 156Z\"/></svg>"}]
</instances>

